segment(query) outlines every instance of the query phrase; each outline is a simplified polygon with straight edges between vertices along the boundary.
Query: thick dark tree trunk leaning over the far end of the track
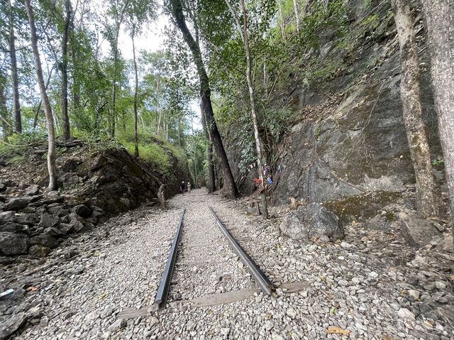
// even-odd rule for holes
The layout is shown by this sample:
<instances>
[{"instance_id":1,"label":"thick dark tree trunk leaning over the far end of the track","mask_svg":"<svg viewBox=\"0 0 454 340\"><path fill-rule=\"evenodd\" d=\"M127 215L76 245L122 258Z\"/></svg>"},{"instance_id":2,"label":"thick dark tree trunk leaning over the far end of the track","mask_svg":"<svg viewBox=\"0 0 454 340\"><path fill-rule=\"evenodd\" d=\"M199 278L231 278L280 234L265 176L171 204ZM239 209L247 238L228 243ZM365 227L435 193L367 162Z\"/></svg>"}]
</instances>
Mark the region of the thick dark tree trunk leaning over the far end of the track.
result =
<instances>
[{"instance_id":1,"label":"thick dark tree trunk leaning over the far end of the track","mask_svg":"<svg viewBox=\"0 0 454 340\"><path fill-rule=\"evenodd\" d=\"M182 10L181 0L170 0L172 7L172 15L177 22L179 30L183 33L184 41L189 46L194 58L194 63L197 67L200 81L200 97L201 97L201 111L204 112L207 126L209 127L210 136L213 139L214 148L218 159L220 160L221 169L223 172L224 190L228 197L238 197L238 189L235 180L233 180L232 171L228 164L226 150L224 149L221 134L218 131L218 126L214 119L213 106L211 105L211 89L209 84L209 77L206 74L205 65L201 57L200 47L192 37L191 32L187 28L186 21Z\"/></svg>"}]
</instances>

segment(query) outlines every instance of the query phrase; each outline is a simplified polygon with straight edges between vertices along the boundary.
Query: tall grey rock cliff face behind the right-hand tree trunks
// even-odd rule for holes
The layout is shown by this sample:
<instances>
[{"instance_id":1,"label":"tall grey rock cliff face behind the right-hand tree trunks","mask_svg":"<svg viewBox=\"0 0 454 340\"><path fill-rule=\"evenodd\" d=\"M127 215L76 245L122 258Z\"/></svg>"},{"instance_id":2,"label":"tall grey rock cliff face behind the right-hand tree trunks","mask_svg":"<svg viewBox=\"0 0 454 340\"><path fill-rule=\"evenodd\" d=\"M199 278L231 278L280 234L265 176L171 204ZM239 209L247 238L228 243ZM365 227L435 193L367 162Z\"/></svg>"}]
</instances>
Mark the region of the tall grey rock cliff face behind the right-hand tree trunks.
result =
<instances>
[{"instance_id":1,"label":"tall grey rock cliff face behind the right-hand tree trunks","mask_svg":"<svg viewBox=\"0 0 454 340\"><path fill-rule=\"evenodd\" d=\"M375 216L377 209L414 185L400 99L399 43L390 1L348 2L353 49L340 47L339 38L320 33L312 75L294 75L285 100L297 112L277 150L272 202L289 197L328 202L342 215L344 202L355 197L349 214ZM371 11L372 10L372 11ZM415 11L415 13L418 13ZM377 22L364 29L365 21ZM361 30L365 33L358 33ZM428 74L428 55L421 16L416 17L421 62L421 102L433 160L442 158L437 117ZM356 31L356 33L355 33ZM357 34L358 33L358 34ZM303 56L301 56L303 57ZM326 74L326 69L334 71ZM438 180L443 172L437 171ZM248 192L248 188L243 190ZM351 205L351 204L350 204ZM373 207L371 207L373 206Z\"/></svg>"}]
</instances>

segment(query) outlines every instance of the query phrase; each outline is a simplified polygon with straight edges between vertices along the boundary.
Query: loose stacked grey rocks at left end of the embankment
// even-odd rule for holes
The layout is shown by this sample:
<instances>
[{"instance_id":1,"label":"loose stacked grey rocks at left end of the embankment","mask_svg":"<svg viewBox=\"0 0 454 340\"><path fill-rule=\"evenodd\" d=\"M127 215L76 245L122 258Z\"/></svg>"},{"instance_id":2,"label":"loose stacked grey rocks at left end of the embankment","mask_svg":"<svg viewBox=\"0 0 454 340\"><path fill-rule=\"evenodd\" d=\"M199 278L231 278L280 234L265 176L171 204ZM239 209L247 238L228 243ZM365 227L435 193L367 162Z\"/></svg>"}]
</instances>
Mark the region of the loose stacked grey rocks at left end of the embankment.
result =
<instances>
[{"instance_id":1,"label":"loose stacked grey rocks at left end of the embankment","mask_svg":"<svg viewBox=\"0 0 454 340\"><path fill-rule=\"evenodd\" d=\"M6 201L0 207L0 254L46 256L59 238L105 221L103 209L90 204L70 205L72 197L56 191L43 193L38 185L10 188L0 196Z\"/></svg>"}]
</instances>

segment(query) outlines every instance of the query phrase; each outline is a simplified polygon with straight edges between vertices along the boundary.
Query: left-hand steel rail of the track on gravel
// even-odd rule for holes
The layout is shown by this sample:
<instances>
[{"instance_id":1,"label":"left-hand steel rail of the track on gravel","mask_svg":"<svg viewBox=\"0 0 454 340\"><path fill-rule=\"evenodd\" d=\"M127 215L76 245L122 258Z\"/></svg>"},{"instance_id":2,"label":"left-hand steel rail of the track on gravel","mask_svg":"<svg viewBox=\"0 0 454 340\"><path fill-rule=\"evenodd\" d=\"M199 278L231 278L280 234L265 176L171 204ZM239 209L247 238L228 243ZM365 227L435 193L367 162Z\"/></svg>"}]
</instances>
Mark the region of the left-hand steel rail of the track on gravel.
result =
<instances>
[{"instance_id":1,"label":"left-hand steel rail of the track on gravel","mask_svg":"<svg viewBox=\"0 0 454 340\"><path fill-rule=\"evenodd\" d=\"M151 309L153 311L158 309L164 309L167 302L167 296L169 295L170 283L172 282L173 268L175 267L175 261L177 259L177 248L179 244L179 238L182 234L183 229L183 217L186 209L183 209L182 216L179 219L179 224L177 226L177 234L173 238L172 247L170 248L170 254L167 258L167 263L165 264L164 272L162 273L161 283L157 289L157 294L155 297L155 302Z\"/></svg>"}]
</instances>

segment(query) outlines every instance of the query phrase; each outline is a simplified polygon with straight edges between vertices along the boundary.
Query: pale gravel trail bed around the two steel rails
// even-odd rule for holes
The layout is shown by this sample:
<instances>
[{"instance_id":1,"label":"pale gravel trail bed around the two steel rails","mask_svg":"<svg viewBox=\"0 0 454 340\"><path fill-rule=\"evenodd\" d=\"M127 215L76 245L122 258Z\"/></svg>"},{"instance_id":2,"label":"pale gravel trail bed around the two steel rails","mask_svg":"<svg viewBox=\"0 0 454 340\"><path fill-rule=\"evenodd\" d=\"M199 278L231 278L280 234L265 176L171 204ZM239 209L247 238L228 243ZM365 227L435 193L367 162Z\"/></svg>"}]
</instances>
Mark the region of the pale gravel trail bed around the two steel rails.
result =
<instances>
[{"instance_id":1,"label":"pale gravel trail bed around the two steel rails","mask_svg":"<svg viewBox=\"0 0 454 340\"><path fill-rule=\"evenodd\" d=\"M453 339L453 253L411 248L395 231L345 226L298 243L282 216L205 190L67 238L45 259L0 265L0 339ZM209 212L277 287L262 295ZM184 217L167 308L149 312ZM224 302L224 303L223 303Z\"/></svg>"}]
</instances>

